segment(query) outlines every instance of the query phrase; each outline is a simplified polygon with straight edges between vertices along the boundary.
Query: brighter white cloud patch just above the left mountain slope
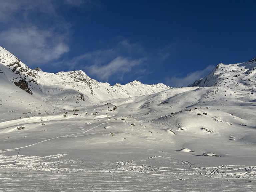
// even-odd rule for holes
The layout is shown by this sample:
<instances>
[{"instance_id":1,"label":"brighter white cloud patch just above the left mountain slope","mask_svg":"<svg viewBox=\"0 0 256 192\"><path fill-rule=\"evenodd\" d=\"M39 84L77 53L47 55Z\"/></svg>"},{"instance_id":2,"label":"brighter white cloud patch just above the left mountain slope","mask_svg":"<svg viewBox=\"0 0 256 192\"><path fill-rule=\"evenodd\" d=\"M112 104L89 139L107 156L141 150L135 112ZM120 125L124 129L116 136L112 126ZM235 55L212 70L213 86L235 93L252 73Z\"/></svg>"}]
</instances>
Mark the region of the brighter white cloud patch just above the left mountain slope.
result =
<instances>
[{"instance_id":1,"label":"brighter white cloud patch just above the left mountain slope","mask_svg":"<svg viewBox=\"0 0 256 192\"><path fill-rule=\"evenodd\" d=\"M0 41L12 47L12 52L22 55L31 65L46 63L58 59L69 51L65 43L65 35L55 37L51 30L40 30L36 27L16 29L12 28L0 33Z\"/></svg>"}]
</instances>

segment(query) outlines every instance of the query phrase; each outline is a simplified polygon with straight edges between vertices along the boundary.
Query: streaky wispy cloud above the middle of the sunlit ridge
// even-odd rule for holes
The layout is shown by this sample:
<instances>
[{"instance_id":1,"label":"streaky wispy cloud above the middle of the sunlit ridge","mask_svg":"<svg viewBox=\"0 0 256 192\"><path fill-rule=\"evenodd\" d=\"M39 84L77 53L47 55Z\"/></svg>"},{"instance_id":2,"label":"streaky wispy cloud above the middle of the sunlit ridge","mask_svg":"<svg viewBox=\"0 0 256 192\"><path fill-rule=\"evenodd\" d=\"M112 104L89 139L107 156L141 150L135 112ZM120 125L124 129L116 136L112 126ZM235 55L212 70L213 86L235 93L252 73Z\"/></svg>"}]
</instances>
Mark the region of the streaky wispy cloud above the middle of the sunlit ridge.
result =
<instances>
[{"instance_id":1,"label":"streaky wispy cloud above the middle of the sunlit ridge","mask_svg":"<svg viewBox=\"0 0 256 192\"><path fill-rule=\"evenodd\" d=\"M82 69L99 81L108 81L113 76L115 80L123 80L130 72L142 72L142 66L149 60L142 51L143 47L124 38L119 40L111 49L84 53L66 61L65 65L69 70Z\"/></svg>"}]
</instances>

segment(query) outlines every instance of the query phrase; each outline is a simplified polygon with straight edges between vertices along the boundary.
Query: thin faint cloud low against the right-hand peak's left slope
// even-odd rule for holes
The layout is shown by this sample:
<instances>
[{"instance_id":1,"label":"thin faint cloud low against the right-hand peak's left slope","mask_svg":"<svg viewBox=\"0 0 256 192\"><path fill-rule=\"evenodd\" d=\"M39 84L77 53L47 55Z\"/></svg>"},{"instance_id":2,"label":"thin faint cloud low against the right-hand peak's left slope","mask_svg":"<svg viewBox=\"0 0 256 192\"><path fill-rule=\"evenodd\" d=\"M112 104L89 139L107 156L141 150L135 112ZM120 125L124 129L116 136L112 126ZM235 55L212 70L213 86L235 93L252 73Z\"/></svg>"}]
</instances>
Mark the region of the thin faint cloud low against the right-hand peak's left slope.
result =
<instances>
[{"instance_id":1,"label":"thin faint cloud low against the right-hand peak's left slope","mask_svg":"<svg viewBox=\"0 0 256 192\"><path fill-rule=\"evenodd\" d=\"M166 78L166 84L171 87L186 87L189 84L194 83L196 80L205 77L213 70L214 66L209 65L203 70L198 70L192 73L188 73L185 77L171 77Z\"/></svg>"}]
</instances>

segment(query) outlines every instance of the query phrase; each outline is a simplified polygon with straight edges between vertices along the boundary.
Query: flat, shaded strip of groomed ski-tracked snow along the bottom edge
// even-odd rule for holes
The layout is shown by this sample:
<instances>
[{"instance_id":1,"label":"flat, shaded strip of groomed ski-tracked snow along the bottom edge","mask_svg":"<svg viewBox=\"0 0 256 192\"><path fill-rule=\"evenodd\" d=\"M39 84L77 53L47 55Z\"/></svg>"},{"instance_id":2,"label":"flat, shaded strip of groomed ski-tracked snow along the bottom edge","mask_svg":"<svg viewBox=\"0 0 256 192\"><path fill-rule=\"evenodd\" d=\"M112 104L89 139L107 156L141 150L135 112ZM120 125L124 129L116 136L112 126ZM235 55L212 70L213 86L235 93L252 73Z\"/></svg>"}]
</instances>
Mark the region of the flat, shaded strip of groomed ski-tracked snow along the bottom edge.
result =
<instances>
[{"instance_id":1,"label":"flat, shaded strip of groomed ski-tracked snow along the bottom edge","mask_svg":"<svg viewBox=\"0 0 256 192\"><path fill-rule=\"evenodd\" d=\"M190 172L191 173L191 172ZM255 180L202 177L187 171L169 174L145 172L65 172L1 169L1 191L159 191L253 192Z\"/></svg>"}]
</instances>

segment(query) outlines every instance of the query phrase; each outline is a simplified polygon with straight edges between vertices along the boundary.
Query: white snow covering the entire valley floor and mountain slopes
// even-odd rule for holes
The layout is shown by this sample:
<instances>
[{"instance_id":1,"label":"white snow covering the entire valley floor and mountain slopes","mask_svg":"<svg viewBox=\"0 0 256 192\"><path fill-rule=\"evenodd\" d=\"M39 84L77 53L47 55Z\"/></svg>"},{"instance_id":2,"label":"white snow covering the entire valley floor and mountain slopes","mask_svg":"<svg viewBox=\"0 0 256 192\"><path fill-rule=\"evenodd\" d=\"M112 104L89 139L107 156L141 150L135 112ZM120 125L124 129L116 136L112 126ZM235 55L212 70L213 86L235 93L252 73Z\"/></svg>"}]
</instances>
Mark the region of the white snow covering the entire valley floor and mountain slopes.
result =
<instances>
[{"instance_id":1,"label":"white snow covering the entire valley floor and mountain slopes","mask_svg":"<svg viewBox=\"0 0 256 192\"><path fill-rule=\"evenodd\" d=\"M217 86L110 86L16 74L0 50L1 191L256 191L254 60L218 65ZM32 95L13 84L24 75Z\"/></svg>"}]
</instances>

